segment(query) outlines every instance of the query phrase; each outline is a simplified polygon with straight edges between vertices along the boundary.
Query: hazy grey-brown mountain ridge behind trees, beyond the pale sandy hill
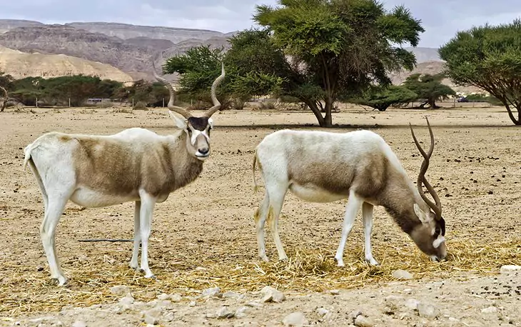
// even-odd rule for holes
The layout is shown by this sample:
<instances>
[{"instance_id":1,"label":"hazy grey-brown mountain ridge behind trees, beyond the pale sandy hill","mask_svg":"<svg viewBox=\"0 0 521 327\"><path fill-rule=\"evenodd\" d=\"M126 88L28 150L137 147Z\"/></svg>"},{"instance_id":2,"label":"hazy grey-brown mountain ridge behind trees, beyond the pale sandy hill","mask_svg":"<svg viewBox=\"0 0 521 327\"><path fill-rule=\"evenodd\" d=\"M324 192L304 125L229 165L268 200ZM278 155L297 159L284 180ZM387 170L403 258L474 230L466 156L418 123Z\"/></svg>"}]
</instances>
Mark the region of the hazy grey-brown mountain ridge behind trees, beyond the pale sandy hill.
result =
<instances>
[{"instance_id":1,"label":"hazy grey-brown mountain ridge behind trees, beyond the pale sandy hill","mask_svg":"<svg viewBox=\"0 0 521 327\"><path fill-rule=\"evenodd\" d=\"M202 29L178 29L163 26L136 26L103 22L74 22L45 25L37 21L0 19L0 45L25 52L65 54L89 61L99 61L121 69L136 79L153 80L152 61L159 67L171 56L183 54L193 46L229 49L228 38L236 32L223 34ZM392 74L400 84L410 74L437 74L443 61L435 48L405 48L416 56L418 66L411 72ZM176 80L176 76L165 76ZM475 88L444 84L456 91L470 93Z\"/></svg>"}]
</instances>

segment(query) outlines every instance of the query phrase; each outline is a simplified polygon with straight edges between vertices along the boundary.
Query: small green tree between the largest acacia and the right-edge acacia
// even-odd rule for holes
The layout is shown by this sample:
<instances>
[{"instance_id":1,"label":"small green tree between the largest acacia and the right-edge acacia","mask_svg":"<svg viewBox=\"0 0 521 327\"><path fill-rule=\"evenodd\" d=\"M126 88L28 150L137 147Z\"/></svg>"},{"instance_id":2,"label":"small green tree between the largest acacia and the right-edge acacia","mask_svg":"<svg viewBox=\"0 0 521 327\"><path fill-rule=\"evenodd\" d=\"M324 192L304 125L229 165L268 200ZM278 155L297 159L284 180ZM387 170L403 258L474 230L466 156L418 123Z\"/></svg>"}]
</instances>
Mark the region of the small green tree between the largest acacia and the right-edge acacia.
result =
<instances>
[{"instance_id":1,"label":"small green tree between the largest acacia and the right-edge acacia","mask_svg":"<svg viewBox=\"0 0 521 327\"><path fill-rule=\"evenodd\" d=\"M448 96L456 95L456 92L450 86L442 84L444 78L443 74L413 74L408 76L403 86L418 94L418 99L425 101L420 107L423 108L423 106L429 104L431 109L435 109L437 108L436 101L445 100Z\"/></svg>"}]
</instances>

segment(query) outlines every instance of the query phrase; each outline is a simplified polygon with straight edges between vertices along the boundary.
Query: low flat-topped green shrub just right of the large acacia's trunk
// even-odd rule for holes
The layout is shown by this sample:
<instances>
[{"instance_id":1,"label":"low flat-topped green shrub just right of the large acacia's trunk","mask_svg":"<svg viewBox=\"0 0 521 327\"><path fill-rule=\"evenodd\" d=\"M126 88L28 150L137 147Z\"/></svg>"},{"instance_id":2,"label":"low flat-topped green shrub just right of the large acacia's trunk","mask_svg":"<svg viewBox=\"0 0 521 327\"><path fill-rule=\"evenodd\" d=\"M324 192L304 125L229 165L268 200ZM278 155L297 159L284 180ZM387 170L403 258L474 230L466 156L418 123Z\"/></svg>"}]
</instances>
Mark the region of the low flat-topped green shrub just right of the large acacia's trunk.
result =
<instances>
[{"instance_id":1,"label":"low flat-topped green shrub just right of the large acacia's trunk","mask_svg":"<svg viewBox=\"0 0 521 327\"><path fill-rule=\"evenodd\" d=\"M410 101L418 99L418 94L415 94L410 89L404 86L373 86L368 91L365 91L363 96L353 99L351 102L355 104L362 104L378 109L378 111L385 111L389 106L396 104L407 104Z\"/></svg>"}]
</instances>

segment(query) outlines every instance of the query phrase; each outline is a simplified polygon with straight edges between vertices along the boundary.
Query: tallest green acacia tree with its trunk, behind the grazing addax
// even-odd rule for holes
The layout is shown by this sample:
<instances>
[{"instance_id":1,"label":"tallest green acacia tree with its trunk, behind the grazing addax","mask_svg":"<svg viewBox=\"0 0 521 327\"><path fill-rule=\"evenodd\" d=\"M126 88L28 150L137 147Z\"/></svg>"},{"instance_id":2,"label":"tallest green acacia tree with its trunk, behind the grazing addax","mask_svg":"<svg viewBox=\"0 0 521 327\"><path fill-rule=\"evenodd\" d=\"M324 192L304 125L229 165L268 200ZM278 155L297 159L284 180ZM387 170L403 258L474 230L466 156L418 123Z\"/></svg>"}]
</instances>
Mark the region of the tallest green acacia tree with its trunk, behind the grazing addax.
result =
<instances>
[{"instance_id":1,"label":"tallest green acacia tree with its trunk, behind the grazing addax","mask_svg":"<svg viewBox=\"0 0 521 327\"><path fill-rule=\"evenodd\" d=\"M333 125L335 101L353 97L371 83L389 85L388 72L415 65L414 54L393 46L417 46L424 31L404 6L385 11L375 0L280 0L279 4L257 6L253 18L287 55L291 70L283 70L283 93L307 104L320 126Z\"/></svg>"}]
</instances>

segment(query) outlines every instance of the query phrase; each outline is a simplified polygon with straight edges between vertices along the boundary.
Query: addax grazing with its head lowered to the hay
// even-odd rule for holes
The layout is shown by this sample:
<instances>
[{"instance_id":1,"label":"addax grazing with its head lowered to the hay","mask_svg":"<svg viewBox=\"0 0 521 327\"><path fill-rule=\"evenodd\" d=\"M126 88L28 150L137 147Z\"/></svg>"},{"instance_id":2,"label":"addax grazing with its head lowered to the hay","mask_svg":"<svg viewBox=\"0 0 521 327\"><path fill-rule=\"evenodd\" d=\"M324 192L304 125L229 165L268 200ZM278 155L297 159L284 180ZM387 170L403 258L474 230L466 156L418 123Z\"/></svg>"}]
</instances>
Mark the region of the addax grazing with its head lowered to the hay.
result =
<instances>
[{"instance_id":1,"label":"addax grazing with its head lowered to the hay","mask_svg":"<svg viewBox=\"0 0 521 327\"><path fill-rule=\"evenodd\" d=\"M348 198L340 245L335 254L338 266L344 266L345 241L362 207L365 236L365 260L378 265L371 250L373 206L383 206L394 221L408 233L421 251L433 261L447 256L445 220L440 198L425 179L434 150L433 130L430 149L422 149L410 126L413 139L424 160L418 175L418 188L403 169L398 157L378 134L372 131L330 133L324 131L276 131L258 144L253 158L253 183L256 163L265 183L265 197L254 217L258 255L265 253L264 223L268 220L279 260L288 258L278 235L278 217L288 189L310 202L331 202ZM423 193L422 184L435 203ZM431 211L432 209L432 211Z\"/></svg>"}]
</instances>

